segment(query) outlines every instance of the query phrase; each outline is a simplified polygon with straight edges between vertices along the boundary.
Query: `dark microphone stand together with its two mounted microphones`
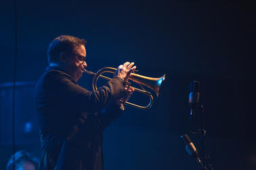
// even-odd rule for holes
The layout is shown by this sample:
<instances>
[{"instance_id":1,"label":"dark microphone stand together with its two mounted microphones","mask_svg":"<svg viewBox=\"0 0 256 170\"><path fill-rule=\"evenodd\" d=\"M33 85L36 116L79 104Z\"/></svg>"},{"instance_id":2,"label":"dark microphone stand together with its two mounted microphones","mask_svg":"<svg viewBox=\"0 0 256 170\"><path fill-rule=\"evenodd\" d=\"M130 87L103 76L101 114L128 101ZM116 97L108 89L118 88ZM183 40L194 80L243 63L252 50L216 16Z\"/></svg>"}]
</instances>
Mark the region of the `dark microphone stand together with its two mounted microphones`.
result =
<instances>
[{"instance_id":1,"label":"dark microphone stand together with its two mounted microphones","mask_svg":"<svg viewBox=\"0 0 256 170\"><path fill-rule=\"evenodd\" d=\"M181 138L186 143L186 150L187 152L196 159L196 162L200 165L200 169L204 170L213 170L213 167L211 165L210 157L206 155L205 151L205 138L206 138L206 130L205 130L205 122L204 122L204 115L205 115L205 109L202 104L199 104L199 86L200 82L193 81L190 82L190 96L189 96L189 104L190 104L190 125L192 125L192 119L194 119L194 113L196 108L200 107L200 129L198 129L196 132L190 130L190 134L200 134L201 137L201 143L202 143L202 150L200 150L200 154L198 154L198 151L194 147L194 144L191 142L190 138L187 134L184 136L181 136ZM202 162L200 161L200 157L202 158Z\"/></svg>"}]
</instances>

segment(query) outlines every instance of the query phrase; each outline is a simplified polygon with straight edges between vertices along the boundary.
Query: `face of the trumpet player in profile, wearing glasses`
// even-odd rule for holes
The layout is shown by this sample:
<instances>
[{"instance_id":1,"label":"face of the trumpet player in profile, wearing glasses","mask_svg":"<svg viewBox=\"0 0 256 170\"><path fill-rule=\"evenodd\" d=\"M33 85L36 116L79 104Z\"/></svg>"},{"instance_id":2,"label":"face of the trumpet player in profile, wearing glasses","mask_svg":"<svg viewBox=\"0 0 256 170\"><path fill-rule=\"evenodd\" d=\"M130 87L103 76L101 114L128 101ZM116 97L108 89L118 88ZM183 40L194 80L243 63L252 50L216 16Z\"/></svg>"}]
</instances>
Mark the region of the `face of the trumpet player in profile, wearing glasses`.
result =
<instances>
[{"instance_id":1,"label":"face of the trumpet player in profile, wearing glasses","mask_svg":"<svg viewBox=\"0 0 256 170\"><path fill-rule=\"evenodd\" d=\"M81 78L83 74L83 69L87 67L87 63L85 63L86 50L85 46L81 45L73 50L72 54L68 55L68 59L66 61L66 69L68 74L74 78L77 82L79 78Z\"/></svg>"}]
</instances>

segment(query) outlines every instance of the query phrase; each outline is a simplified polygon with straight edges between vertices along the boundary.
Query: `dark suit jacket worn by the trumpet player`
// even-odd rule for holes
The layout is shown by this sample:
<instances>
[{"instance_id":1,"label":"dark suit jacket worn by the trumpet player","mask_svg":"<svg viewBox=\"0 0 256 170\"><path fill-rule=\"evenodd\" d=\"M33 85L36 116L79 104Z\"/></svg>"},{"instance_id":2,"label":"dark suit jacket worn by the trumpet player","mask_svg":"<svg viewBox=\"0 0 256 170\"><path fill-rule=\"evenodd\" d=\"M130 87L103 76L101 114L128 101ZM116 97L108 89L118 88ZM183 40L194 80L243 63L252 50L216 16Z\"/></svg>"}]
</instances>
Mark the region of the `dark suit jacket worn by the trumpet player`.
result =
<instances>
[{"instance_id":1,"label":"dark suit jacket worn by the trumpet player","mask_svg":"<svg viewBox=\"0 0 256 170\"><path fill-rule=\"evenodd\" d=\"M39 169L102 170L103 130L123 111L114 103L124 94L120 78L88 91L65 72L47 67L35 88Z\"/></svg>"}]
</instances>

